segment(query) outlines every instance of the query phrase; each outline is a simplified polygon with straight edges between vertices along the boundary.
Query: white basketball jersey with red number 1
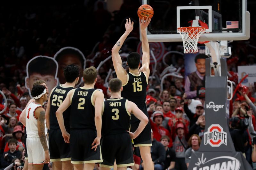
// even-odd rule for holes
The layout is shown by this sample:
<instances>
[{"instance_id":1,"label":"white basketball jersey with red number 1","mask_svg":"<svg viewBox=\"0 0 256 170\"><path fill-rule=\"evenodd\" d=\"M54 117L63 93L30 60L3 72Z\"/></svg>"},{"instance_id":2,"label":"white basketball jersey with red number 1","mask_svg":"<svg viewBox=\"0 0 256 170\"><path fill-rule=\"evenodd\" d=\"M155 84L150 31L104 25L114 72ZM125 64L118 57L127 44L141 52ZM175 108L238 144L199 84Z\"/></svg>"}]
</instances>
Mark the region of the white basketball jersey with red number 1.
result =
<instances>
[{"instance_id":1,"label":"white basketball jersey with red number 1","mask_svg":"<svg viewBox=\"0 0 256 170\"><path fill-rule=\"evenodd\" d=\"M40 104L31 102L26 110L26 129L27 137L39 137L37 128L37 119L35 117L35 110L37 107L42 107ZM47 134L46 120L44 120L44 132Z\"/></svg>"}]
</instances>

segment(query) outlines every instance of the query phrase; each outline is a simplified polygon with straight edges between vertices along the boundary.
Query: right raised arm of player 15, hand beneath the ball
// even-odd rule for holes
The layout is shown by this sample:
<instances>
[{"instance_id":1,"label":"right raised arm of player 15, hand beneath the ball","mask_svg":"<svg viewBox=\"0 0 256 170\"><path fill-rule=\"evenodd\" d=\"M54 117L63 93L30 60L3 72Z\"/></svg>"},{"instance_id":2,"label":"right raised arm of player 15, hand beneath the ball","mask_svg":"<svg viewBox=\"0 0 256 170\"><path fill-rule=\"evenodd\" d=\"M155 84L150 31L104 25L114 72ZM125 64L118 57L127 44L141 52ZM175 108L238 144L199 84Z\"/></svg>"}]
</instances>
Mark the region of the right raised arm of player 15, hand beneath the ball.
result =
<instances>
[{"instance_id":1,"label":"right raised arm of player 15, hand beneath the ball","mask_svg":"<svg viewBox=\"0 0 256 170\"><path fill-rule=\"evenodd\" d=\"M146 22L144 22L144 17L142 21L140 20L140 33L141 33L141 42L142 42L142 67L140 68L140 71L144 72L147 76L147 79L149 77L149 44L148 44L148 37L147 37L147 27L150 23L151 19L147 18Z\"/></svg>"}]
</instances>

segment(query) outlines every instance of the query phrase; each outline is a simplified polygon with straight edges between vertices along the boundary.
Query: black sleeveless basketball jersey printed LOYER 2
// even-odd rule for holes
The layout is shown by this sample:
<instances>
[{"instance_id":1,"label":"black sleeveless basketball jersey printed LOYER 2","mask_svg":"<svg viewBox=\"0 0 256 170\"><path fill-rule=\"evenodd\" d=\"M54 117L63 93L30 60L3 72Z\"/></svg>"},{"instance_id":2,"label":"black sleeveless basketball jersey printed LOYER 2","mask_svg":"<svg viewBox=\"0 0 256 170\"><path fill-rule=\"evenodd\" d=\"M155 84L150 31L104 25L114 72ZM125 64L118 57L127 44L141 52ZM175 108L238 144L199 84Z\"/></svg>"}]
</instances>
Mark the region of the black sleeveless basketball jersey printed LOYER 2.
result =
<instances>
[{"instance_id":1,"label":"black sleeveless basketball jersey printed LOYER 2","mask_svg":"<svg viewBox=\"0 0 256 170\"><path fill-rule=\"evenodd\" d=\"M97 89L76 88L71 100L71 129L93 129L96 131L93 94Z\"/></svg>"}]
</instances>

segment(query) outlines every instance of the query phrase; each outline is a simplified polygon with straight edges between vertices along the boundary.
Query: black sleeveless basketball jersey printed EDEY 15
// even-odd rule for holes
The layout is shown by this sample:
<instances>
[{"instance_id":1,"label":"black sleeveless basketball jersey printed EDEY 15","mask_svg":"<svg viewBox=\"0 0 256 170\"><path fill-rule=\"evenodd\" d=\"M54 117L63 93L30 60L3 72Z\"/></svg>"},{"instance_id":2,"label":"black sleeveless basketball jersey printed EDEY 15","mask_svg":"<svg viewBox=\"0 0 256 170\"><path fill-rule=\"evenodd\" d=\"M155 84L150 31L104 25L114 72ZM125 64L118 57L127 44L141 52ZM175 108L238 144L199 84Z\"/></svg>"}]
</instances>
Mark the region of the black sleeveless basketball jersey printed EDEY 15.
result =
<instances>
[{"instance_id":1,"label":"black sleeveless basketball jersey printed EDEY 15","mask_svg":"<svg viewBox=\"0 0 256 170\"><path fill-rule=\"evenodd\" d=\"M135 103L143 111L146 108L147 86L148 82L143 72L140 72L139 75L129 72L121 96Z\"/></svg>"}]
</instances>

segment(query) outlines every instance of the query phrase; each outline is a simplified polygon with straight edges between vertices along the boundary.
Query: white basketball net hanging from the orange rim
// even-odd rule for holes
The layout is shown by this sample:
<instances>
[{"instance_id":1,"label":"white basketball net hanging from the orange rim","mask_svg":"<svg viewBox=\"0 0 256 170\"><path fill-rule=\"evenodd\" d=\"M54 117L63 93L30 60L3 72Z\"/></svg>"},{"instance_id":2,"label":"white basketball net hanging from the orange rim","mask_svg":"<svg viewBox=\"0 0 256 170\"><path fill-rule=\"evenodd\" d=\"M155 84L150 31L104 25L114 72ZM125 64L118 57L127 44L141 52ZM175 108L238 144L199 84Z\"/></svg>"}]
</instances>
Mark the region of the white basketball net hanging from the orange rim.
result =
<instances>
[{"instance_id":1,"label":"white basketball net hanging from the orange rim","mask_svg":"<svg viewBox=\"0 0 256 170\"><path fill-rule=\"evenodd\" d=\"M180 27L178 33L180 33L183 41L184 53L196 53L197 42L202 33L204 33L204 27Z\"/></svg>"}]
</instances>

